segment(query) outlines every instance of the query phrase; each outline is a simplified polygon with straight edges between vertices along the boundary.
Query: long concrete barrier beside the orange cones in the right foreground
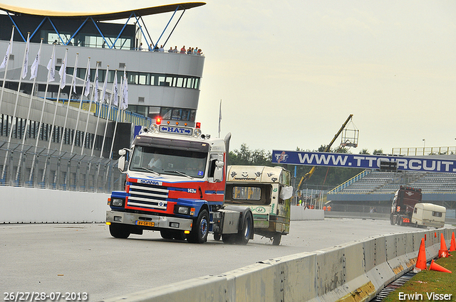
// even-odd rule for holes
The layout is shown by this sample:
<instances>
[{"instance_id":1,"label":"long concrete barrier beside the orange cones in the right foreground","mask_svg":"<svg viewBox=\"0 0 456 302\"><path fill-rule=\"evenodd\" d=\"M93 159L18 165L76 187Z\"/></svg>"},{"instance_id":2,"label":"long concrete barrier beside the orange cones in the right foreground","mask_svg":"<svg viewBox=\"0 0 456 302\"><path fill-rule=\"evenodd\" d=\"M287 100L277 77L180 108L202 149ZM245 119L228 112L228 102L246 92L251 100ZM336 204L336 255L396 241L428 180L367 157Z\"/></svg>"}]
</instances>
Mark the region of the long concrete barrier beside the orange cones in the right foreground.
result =
<instances>
[{"instance_id":1,"label":"long concrete barrier beside the orange cones in the right foreground","mask_svg":"<svg viewBox=\"0 0 456 302\"><path fill-rule=\"evenodd\" d=\"M430 260L440 249L440 234L448 246L452 232L455 227L368 237L104 301L369 301L390 281L413 269L421 238L426 237Z\"/></svg>"}]
</instances>

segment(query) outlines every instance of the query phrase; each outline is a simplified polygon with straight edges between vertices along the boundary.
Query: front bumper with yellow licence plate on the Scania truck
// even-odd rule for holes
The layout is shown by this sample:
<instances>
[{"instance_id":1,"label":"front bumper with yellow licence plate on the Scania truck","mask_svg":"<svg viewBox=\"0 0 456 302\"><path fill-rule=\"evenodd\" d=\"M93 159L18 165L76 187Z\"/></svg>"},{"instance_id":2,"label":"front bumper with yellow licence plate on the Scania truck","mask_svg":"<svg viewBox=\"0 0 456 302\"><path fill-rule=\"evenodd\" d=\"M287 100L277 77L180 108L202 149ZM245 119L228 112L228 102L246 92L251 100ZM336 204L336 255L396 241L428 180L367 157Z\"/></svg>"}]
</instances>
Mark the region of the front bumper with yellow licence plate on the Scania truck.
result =
<instances>
[{"instance_id":1,"label":"front bumper with yellow licence plate on the Scania truck","mask_svg":"<svg viewBox=\"0 0 456 302\"><path fill-rule=\"evenodd\" d=\"M159 215L106 211L106 222L137 225L140 227L142 226L145 229L152 228L191 231L193 220Z\"/></svg>"}]
</instances>

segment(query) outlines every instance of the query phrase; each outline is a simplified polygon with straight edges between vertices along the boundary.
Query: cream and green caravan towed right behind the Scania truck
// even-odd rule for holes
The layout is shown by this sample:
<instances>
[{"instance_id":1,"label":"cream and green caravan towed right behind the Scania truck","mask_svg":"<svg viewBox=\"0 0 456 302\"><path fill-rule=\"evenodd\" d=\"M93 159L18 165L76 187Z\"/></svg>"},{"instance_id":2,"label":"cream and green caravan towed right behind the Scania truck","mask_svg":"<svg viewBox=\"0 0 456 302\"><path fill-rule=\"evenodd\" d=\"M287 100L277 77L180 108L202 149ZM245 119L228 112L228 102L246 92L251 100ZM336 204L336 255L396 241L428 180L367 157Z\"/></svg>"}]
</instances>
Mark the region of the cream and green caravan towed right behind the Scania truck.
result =
<instances>
[{"instance_id":1,"label":"cream and green caravan towed right behind the Scania truck","mask_svg":"<svg viewBox=\"0 0 456 302\"><path fill-rule=\"evenodd\" d=\"M279 245L290 231L291 174L282 167L228 166L225 204L246 205L254 233Z\"/></svg>"}]
</instances>

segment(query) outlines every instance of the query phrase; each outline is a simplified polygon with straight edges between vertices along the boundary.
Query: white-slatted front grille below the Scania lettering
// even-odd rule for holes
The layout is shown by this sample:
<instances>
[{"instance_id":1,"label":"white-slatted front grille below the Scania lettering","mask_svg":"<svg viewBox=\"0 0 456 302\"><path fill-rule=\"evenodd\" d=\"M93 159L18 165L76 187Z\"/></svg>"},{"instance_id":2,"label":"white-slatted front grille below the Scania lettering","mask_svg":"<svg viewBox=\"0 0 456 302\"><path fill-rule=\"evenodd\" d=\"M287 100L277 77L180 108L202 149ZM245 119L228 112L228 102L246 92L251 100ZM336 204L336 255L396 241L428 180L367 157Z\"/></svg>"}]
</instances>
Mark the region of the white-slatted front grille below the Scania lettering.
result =
<instances>
[{"instance_id":1,"label":"white-slatted front grille below the Scania lettering","mask_svg":"<svg viewBox=\"0 0 456 302\"><path fill-rule=\"evenodd\" d=\"M160 185L131 184L127 206L166 210L168 192L169 190Z\"/></svg>"}]
</instances>

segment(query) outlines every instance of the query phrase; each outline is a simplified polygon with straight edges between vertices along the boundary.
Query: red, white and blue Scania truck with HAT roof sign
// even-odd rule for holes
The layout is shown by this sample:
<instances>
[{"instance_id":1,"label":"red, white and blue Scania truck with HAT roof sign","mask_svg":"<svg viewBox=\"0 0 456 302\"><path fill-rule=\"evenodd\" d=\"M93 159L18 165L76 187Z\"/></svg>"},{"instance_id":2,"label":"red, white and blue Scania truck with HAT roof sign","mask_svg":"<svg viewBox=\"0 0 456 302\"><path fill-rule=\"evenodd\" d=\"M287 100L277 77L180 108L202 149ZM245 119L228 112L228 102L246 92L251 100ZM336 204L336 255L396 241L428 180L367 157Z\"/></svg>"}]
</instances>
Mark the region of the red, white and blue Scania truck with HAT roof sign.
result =
<instances>
[{"instance_id":1,"label":"red, white and blue Scania truck with HAT roof sign","mask_svg":"<svg viewBox=\"0 0 456 302\"><path fill-rule=\"evenodd\" d=\"M157 230L165 239L204 243L209 232L224 242L247 244L254 218L247 206L224 205L226 159L224 139L199 129L160 120L119 151L118 167L126 174L125 190L108 200L106 224L116 238Z\"/></svg>"}]
</instances>

